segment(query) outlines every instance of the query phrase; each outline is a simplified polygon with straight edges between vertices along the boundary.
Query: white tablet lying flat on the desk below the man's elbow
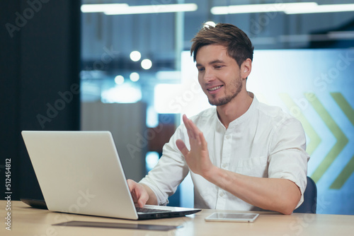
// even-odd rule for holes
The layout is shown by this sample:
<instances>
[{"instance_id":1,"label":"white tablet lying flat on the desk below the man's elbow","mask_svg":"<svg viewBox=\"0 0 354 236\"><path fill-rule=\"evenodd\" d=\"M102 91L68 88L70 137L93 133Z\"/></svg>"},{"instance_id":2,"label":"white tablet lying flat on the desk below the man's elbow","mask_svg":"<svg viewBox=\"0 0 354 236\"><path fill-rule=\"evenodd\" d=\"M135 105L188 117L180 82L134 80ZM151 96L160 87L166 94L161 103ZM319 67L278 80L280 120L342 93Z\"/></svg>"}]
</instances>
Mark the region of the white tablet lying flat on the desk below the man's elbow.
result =
<instances>
[{"instance_id":1,"label":"white tablet lying flat on the desk below the man's elbow","mask_svg":"<svg viewBox=\"0 0 354 236\"><path fill-rule=\"evenodd\" d=\"M258 213L212 213L205 221L226 222L253 222L259 216Z\"/></svg>"}]
</instances>

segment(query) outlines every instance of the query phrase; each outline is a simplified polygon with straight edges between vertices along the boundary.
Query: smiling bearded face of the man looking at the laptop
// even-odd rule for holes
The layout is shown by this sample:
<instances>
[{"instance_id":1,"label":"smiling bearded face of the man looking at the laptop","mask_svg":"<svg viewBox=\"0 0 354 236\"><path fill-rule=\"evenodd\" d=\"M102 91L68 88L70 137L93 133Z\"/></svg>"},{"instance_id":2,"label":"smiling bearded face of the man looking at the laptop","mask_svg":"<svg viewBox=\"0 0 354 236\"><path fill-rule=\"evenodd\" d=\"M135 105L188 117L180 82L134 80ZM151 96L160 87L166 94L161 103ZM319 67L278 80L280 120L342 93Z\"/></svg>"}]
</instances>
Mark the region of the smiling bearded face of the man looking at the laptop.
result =
<instances>
[{"instance_id":1,"label":"smiling bearded face of the man looking at the laptop","mask_svg":"<svg viewBox=\"0 0 354 236\"><path fill-rule=\"evenodd\" d=\"M241 70L222 45L201 47L196 57L198 81L211 105L221 106L233 100L242 89Z\"/></svg>"}]
</instances>

